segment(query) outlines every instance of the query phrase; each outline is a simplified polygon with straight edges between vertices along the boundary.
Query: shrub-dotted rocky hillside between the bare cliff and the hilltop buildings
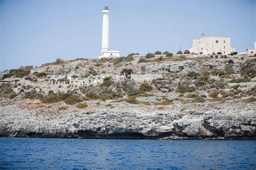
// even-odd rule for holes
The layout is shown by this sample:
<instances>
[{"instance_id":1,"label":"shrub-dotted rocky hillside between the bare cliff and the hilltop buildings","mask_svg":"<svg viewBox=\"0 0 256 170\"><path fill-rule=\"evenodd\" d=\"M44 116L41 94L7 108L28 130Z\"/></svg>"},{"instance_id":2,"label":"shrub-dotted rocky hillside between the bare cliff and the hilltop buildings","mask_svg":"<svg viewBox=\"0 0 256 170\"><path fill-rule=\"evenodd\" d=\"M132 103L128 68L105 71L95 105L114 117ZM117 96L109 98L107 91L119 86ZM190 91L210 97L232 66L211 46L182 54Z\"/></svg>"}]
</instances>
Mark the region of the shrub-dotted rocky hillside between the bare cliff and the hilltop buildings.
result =
<instances>
[{"instance_id":1,"label":"shrub-dotted rocky hillside between the bare cliff and the hilltop buildings","mask_svg":"<svg viewBox=\"0 0 256 170\"><path fill-rule=\"evenodd\" d=\"M189 54L185 51L184 54ZM180 52L178 53L180 54ZM75 59L64 61L57 59L52 63L45 63L40 67L32 66L11 69L2 72L1 79L17 79L14 83L0 84L0 97L12 100L40 100L42 103L65 103L76 105L83 109L94 103L112 102L109 108L114 108L114 103L127 102L130 104L144 105L170 105L173 103L205 103L225 102L241 100L254 102L256 59L226 59L216 60L209 56L204 58L188 59L187 56L173 56L172 53L157 51L149 53L145 57L136 58L129 54L126 57L87 60ZM37 86L24 86L19 80L31 82L52 81L53 83L69 83L67 74L72 79L85 79L97 77L99 74L126 75L125 79L116 81L113 77L106 77L103 83L77 87L69 85L59 89L42 89ZM131 79L131 74L161 74L163 78L157 78L151 82L136 82ZM53 77L55 77L53 79ZM247 84L240 83L248 83ZM230 84L237 83L237 84ZM247 98L250 98L250 100ZM158 107L160 109L161 107Z\"/></svg>"}]
</instances>

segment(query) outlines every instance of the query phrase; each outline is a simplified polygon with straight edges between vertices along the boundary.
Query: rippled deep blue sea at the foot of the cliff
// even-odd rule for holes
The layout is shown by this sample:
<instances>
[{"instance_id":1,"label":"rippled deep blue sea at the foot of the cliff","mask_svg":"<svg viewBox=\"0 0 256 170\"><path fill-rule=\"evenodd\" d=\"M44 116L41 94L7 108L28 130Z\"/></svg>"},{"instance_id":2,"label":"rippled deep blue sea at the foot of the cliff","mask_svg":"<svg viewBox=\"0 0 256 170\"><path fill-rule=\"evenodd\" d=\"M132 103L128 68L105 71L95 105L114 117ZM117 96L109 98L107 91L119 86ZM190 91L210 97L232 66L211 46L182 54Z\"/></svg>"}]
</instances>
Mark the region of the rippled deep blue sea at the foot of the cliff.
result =
<instances>
[{"instance_id":1,"label":"rippled deep blue sea at the foot of the cliff","mask_svg":"<svg viewBox=\"0 0 256 170\"><path fill-rule=\"evenodd\" d=\"M256 168L253 140L0 138L1 168Z\"/></svg>"}]
</instances>

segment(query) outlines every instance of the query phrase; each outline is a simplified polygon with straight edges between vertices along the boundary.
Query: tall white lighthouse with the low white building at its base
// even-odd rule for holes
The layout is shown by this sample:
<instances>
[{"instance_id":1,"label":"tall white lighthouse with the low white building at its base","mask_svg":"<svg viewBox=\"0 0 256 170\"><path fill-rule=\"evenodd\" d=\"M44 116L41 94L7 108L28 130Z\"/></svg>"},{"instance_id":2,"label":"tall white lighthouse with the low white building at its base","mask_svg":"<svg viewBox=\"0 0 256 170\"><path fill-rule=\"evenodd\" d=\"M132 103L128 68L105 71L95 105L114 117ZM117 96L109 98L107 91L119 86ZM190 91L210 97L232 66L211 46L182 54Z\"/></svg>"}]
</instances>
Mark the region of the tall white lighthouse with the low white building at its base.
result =
<instances>
[{"instance_id":1,"label":"tall white lighthouse with the low white building at its base","mask_svg":"<svg viewBox=\"0 0 256 170\"><path fill-rule=\"evenodd\" d=\"M103 13L103 24L102 24L102 53L100 58L117 58L120 57L119 51L109 50L109 6L105 5Z\"/></svg>"}]
</instances>

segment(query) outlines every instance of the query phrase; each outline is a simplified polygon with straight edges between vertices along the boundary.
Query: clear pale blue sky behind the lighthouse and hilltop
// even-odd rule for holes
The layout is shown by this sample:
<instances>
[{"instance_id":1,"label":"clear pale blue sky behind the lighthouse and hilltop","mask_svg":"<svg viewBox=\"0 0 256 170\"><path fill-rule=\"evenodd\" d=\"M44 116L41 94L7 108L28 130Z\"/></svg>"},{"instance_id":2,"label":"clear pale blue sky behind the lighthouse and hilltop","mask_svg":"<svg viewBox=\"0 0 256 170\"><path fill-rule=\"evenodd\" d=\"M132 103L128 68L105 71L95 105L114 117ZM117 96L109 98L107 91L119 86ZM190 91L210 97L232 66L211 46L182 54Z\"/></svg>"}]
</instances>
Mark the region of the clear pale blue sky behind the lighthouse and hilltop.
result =
<instances>
[{"instance_id":1,"label":"clear pale blue sky behind the lighthouse and hilltop","mask_svg":"<svg viewBox=\"0 0 256 170\"><path fill-rule=\"evenodd\" d=\"M176 53L201 33L231 37L238 52L253 48L256 3L224 1L0 0L0 70L56 58L97 58L102 10L109 5L110 49Z\"/></svg>"}]
</instances>

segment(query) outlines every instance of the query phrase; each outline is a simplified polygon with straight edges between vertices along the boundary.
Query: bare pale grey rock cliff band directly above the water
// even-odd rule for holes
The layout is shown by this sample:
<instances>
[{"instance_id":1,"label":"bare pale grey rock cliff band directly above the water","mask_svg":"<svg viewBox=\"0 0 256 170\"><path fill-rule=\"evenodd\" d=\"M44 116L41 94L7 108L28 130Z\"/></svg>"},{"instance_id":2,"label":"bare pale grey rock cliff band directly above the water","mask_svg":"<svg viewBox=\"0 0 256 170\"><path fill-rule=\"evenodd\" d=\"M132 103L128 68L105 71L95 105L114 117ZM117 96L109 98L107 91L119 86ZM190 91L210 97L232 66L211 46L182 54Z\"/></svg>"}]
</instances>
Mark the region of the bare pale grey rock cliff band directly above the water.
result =
<instances>
[{"instance_id":1,"label":"bare pale grey rock cliff band directly above the water","mask_svg":"<svg viewBox=\"0 0 256 170\"><path fill-rule=\"evenodd\" d=\"M124 139L256 139L254 103L152 105L42 112L0 105L0 136Z\"/></svg>"}]
</instances>

